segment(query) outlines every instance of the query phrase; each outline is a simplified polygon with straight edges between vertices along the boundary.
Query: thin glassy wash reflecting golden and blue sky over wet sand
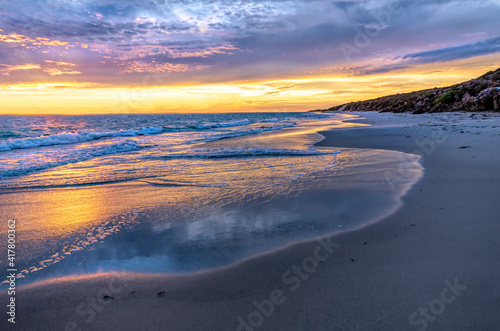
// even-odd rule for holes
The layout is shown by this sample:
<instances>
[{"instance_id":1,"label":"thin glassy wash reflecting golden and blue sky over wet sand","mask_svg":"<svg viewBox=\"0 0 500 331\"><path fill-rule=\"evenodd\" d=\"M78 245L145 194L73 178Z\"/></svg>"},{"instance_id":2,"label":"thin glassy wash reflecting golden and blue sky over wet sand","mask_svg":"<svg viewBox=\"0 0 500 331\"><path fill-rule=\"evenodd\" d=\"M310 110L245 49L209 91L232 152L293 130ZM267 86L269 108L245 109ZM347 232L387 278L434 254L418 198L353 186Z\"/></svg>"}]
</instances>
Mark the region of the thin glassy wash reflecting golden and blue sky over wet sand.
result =
<instances>
[{"instance_id":1,"label":"thin glassy wash reflecting golden and blue sky over wet sand","mask_svg":"<svg viewBox=\"0 0 500 331\"><path fill-rule=\"evenodd\" d=\"M359 125L314 123L174 153L157 136L159 147L129 162L96 158L24 177L31 189L5 184L0 210L18 219L18 277L228 265L376 221L421 177L416 156L314 148L317 130ZM402 159L403 180L388 185Z\"/></svg>"}]
</instances>

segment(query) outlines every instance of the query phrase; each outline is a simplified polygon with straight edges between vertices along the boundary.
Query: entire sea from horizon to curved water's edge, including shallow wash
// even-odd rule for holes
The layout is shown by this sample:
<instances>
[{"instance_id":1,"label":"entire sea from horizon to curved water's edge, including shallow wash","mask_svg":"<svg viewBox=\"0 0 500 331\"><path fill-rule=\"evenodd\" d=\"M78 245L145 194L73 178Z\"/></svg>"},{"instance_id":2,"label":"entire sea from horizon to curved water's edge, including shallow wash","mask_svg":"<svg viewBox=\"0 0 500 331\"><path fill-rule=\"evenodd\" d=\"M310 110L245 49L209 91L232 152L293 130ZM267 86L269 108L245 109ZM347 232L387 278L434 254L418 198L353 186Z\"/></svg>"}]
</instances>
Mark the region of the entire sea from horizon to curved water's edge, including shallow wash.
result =
<instances>
[{"instance_id":1,"label":"entire sea from horizon to curved water's edge, including shallow wash","mask_svg":"<svg viewBox=\"0 0 500 331\"><path fill-rule=\"evenodd\" d=\"M381 190L401 153L314 147L318 131L362 126L352 117L1 116L17 277L193 272L375 220L421 169L415 158L414 175Z\"/></svg>"}]
</instances>

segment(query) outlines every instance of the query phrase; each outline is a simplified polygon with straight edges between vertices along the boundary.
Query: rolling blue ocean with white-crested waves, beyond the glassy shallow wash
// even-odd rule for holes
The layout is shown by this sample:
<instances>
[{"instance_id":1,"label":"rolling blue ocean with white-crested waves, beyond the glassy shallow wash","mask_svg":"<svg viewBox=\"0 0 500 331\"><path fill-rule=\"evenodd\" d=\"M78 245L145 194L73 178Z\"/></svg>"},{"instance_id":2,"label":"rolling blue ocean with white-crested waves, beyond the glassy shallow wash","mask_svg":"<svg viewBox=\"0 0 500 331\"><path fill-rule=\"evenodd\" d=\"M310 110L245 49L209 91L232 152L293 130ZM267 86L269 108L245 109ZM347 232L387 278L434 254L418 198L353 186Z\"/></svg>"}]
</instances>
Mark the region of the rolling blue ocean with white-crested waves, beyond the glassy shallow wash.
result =
<instances>
[{"instance_id":1,"label":"rolling blue ocean with white-crested waves, beyond the glassy shallow wash","mask_svg":"<svg viewBox=\"0 0 500 331\"><path fill-rule=\"evenodd\" d=\"M87 176L63 178L57 185L145 176L145 169L136 167L137 161L154 157L193 159L293 154L297 151L272 148L206 150L197 146L208 141L293 127L297 122L318 117L286 113L2 116L0 188L56 185L54 178L30 181L22 176L70 164L95 168L98 167L96 160L106 164L99 167L102 172L98 178L93 177L92 181ZM133 171L117 174L125 164L134 164Z\"/></svg>"}]
</instances>

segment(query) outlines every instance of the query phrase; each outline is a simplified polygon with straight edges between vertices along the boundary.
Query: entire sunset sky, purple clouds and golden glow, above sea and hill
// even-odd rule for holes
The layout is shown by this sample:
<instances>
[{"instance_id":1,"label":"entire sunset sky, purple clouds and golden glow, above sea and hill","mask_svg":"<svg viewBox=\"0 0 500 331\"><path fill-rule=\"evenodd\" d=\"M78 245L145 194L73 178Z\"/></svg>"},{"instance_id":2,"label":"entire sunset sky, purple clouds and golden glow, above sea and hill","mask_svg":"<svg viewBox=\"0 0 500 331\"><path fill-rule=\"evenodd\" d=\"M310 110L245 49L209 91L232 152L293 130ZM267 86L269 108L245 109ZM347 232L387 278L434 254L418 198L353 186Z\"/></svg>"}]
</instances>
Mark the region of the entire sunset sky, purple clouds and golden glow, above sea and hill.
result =
<instances>
[{"instance_id":1,"label":"entire sunset sky, purple clouds and golden glow, above sea and hill","mask_svg":"<svg viewBox=\"0 0 500 331\"><path fill-rule=\"evenodd\" d=\"M306 111L500 67L500 0L0 3L0 114Z\"/></svg>"}]
</instances>

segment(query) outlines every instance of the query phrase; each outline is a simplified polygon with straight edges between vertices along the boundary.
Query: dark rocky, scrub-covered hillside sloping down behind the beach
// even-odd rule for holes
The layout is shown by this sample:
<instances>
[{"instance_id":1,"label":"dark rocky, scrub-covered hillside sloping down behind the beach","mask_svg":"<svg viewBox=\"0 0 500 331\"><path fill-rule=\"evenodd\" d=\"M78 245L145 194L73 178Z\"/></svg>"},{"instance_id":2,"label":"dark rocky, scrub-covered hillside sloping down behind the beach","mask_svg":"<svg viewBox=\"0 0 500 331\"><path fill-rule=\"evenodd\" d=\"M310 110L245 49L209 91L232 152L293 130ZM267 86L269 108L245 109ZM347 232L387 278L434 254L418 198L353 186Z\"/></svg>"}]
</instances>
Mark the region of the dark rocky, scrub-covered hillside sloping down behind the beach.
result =
<instances>
[{"instance_id":1,"label":"dark rocky, scrub-covered hillside sloping down behind the beach","mask_svg":"<svg viewBox=\"0 0 500 331\"><path fill-rule=\"evenodd\" d=\"M449 87L389 95L313 111L378 111L413 114L456 111L498 112L500 111L500 68L477 79Z\"/></svg>"}]
</instances>

